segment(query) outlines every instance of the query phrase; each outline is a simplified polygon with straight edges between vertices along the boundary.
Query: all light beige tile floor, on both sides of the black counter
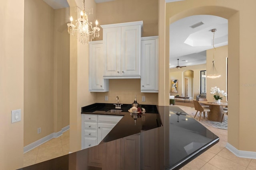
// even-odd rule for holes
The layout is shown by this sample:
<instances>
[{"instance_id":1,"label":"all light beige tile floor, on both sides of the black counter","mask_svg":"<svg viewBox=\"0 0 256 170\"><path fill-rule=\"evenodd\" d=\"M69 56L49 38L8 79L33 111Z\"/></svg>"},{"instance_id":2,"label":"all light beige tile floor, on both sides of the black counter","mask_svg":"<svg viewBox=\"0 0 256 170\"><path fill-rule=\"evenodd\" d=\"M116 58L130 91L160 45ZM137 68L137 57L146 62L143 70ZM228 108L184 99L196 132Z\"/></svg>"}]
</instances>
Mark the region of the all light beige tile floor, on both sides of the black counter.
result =
<instances>
[{"instance_id":1,"label":"all light beige tile floor, on both sides of the black counter","mask_svg":"<svg viewBox=\"0 0 256 170\"><path fill-rule=\"evenodd\" d=\"M176 105L177 106L177 105ZM192 107L179 106L186 112L194 111ZM220 141L212 148L192 160L180 170L256 170L256 159L240 158L226 149L228 131L207 127L216 134ZM58 138L30 150L24 154L24 166L56 158L69 151L69 131Z\"/></svg>"}]
</instances>

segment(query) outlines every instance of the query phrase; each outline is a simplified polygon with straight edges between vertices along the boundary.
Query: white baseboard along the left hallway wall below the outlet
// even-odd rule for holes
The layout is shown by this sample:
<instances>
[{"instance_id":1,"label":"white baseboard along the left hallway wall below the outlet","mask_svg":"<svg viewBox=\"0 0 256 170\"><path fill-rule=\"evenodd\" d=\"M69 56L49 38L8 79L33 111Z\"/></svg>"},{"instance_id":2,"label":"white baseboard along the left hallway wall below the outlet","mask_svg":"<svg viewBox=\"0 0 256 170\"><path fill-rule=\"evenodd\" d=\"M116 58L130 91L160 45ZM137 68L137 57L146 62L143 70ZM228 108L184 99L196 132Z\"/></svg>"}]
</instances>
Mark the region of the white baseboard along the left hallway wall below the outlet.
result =
<instances>
[{"instance_id":1,"label":"white baseboard along the left hallway wall below the outlet","mask_svg":"<svg viewBox=\"0 0 256 170\"><path fill-rule=\"evenodd\" d=\"M69 125L66 126L66 127L63 127L61 131L54 132L50 135L47 135L46 137L43 137L43 138L39 139L38 141L30 143L29 145L23 147L23 152L26 153L26 152L38 147L39 145L42 145L43 143L46 143L47 141L51 140L52 138L60 137L68 129L69 129Z\"/></svg>"}]
</instances>

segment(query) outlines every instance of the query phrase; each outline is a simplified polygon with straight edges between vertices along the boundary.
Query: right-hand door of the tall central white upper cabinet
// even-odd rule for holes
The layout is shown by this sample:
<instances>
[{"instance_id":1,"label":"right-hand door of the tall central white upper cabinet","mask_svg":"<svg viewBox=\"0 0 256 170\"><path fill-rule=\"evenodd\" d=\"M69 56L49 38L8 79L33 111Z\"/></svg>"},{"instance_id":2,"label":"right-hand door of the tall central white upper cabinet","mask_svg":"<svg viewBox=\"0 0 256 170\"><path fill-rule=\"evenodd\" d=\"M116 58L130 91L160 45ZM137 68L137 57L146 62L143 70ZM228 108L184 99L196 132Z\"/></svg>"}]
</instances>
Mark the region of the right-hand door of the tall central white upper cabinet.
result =
<instances>
[{"instance_id":1,"label":"right-hand door of the tall central white upper cabinet","mask_svg":"<svg viewBox=\"0 0 256 170\"><path fill-rule=\"evenodd\" d=\"M121 29L121 75L140 76L140 25Z\"/></svg>"}]
</instances>

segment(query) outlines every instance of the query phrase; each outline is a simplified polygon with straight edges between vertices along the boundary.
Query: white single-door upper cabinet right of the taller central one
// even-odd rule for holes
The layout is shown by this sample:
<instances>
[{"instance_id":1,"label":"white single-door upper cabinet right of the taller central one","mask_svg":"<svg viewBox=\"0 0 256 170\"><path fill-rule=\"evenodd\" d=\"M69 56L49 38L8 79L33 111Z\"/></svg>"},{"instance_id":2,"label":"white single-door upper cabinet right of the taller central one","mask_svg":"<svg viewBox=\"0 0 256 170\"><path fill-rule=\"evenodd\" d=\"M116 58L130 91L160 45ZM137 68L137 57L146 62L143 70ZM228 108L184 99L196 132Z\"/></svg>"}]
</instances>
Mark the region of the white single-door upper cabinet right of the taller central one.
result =
<instances>
[{"instance_id":1,"label":"white single-door upper cabinet right of the taller central one","mask_svg":"<svg viewBox=\"0 0 256 170\"><path fill-rule=\"evenodd\" d=\"M158 92L158 36L141 39L141 92Z\"/></svg>"}]
</instances>

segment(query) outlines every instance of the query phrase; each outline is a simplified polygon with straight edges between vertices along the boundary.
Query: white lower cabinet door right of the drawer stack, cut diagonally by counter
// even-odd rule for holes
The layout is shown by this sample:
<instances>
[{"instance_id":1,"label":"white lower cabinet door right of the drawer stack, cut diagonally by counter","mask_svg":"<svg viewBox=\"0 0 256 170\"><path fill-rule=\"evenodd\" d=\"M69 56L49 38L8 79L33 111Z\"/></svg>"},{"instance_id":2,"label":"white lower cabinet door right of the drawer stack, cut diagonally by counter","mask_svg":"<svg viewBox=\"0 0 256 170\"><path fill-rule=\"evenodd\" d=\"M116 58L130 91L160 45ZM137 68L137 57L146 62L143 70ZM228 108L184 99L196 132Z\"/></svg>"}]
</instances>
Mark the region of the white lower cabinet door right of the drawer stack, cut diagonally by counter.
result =
<instances>
[{"instance_id":1,"label":"white lower cabinet door right of the drawer stack, cut diagonally by counter","mask_svg":"<svg viewBox=\"0 0 256 170\"><path fill-rule=\"evenodd\" d=\"M116 123L98 123L98 144L108 135Z\"/></svg>"}]
</instances>

